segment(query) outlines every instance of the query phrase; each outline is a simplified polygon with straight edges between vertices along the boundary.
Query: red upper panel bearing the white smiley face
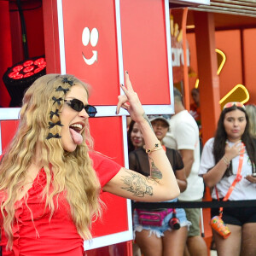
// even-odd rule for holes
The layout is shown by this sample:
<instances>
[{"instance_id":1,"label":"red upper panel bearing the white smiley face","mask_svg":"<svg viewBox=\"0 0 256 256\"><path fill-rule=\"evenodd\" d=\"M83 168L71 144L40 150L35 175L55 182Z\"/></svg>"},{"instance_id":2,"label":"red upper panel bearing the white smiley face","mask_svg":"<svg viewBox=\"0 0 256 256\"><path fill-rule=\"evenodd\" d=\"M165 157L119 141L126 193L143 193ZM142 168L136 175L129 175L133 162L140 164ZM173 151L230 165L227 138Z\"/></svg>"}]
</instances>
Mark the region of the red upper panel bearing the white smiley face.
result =
<instances>
[{"instance_id":1,"label":"red upper panel bearing the white smiley face","mask_svg":"<svg viewBox=\"0 0 256 256\"><path fill-rule=\"evenodd\" d=\"M63 1L64 40L67 73L72 73L92 85L90 103L115 105L119 96L119 68L116 42L114 1L76 0ZM91 41L84 46L84 28L98 31L95 46ZM97 61L92 65L84 62L96 51Z\"/></svg>"}]
</instances>

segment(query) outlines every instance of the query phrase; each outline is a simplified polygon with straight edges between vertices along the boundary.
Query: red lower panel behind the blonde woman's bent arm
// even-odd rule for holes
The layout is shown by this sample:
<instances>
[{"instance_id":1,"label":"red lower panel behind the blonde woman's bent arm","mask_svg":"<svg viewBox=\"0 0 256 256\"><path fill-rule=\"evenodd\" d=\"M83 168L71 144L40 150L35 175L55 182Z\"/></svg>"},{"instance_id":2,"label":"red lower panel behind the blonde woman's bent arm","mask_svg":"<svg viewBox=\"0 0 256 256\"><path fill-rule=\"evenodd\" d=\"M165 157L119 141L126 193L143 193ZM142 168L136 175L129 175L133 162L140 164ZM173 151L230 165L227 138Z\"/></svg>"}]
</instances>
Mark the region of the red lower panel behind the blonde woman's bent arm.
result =
<instances>
[{"instance_id":1,"label":"red lower panel behind the blonde woman's bent arm","mask_svg":"<svg viewBox=\"0 0 256 256\"><path fill-rule=\"evenodd\" d=\"M96 151L123 166L123 137L120 131L122 131L121 117L90 119L90 132L95 139ZM104 236L128 230L126 200L109 193L103 193L102 200L106 203L104 218L93 224L93 235Z\"/></svg>"}]
</instances>

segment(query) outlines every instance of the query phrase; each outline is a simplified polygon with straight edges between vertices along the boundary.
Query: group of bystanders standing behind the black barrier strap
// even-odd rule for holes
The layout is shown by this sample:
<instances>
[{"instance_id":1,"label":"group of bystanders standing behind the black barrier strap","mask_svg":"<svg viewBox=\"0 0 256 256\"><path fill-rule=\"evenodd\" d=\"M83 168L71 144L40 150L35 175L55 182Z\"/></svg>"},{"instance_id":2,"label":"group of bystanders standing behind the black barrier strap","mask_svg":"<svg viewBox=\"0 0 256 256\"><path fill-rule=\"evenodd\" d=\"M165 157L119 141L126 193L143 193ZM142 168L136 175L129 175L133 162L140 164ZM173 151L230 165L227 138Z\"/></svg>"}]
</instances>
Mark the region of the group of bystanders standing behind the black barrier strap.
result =
<instances>
[{"instance_id":1,"label":"group of bystanders standing behind the black barrier strap","mask_svg":"<svg viewBox=\"0 0 256 256\"><path fill-rule=\"evenodd\" d=\"M204 184L212 191L212 201L255 200L256 106L248 104L245 107L240 102L227 103L219 117L216 134L207 141L202 155L199 151L200 127L183 107L183 97L176 88L174 88L174 110L171 119L155 115L150 121L167 156L170 155L168 150L172 148L172 157L168 156L168 159L181 191L178 200L201 201ZM128 142L143 143L142 133L136 139L131 138L131 134L135 135L134 124L131 123L128 131ZM139 133L137 128L135 132ZM143 145L139 147L134 145L134 148L131 148L129 146L131 169L147 177L154 176L154 166L148 166ZM234 183L235 180L237 181ZM207 245L201 237L201 209L179 209L181 213L175 216L181 223L180 227L183 227L179 230L175 230L170 224L173 210L175 212L175 209L168 212L161 224L155 225L152 222L145 224L141 221L140 215L142 211L145 213L145 209L135 209L134 239L143 256L206 256ZM155 208L149 210L152 213L156 211ZM256 207L212 208L211 216L212 222L218 216L222 228L230 232L224 237L224 234L221 234L224 230L212 228L212 241L218 255L256 255L256 245L253 244L256 236ZM218 223L218 229L221 223Z\"/></svg>"}]
</instances>

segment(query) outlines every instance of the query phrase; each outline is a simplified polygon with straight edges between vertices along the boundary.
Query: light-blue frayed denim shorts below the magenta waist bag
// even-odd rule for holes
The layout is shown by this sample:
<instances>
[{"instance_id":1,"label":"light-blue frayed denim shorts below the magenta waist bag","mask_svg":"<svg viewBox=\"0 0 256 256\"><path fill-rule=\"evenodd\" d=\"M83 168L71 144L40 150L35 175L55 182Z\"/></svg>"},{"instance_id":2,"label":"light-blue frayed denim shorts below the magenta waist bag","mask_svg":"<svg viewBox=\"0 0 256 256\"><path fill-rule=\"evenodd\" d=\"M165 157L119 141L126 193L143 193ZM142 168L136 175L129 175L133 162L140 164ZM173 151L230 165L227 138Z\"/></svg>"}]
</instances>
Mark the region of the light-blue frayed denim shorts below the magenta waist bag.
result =
<instances>
[{"instance_id":1,"label":"light-blue frayed denim shorts below the magenta waist bag","mask_svg":"<svg viewBox=\"0 0 256 256\"><path fill-rule=\"evenodd\" d=\"M184 209L182 208L177 208L176 209L176 217L179 219L180 222L180 226L184 227L184 226L188 226L188 230L189 230L189 225L191 224L187 218L186 218L186 213L184 211ZM151 234L153 233L155 236L160 237L160 236L164 236L164 232L166 230L172 230L169 226L169 220L172 218L172 212L169 213L166 218L164 218L163 220L163 224L158 227L158 226L145 226L142 224L139 224L138 221L138 215L137 215L137 211L134 211L133 214L133 229L134 229L134 238L135 238L135 232L141 232L142 230L150 230L150 234L149 236L151 236Z\"/></svg>"}]
</instances>

